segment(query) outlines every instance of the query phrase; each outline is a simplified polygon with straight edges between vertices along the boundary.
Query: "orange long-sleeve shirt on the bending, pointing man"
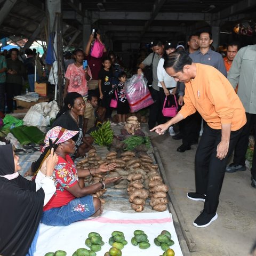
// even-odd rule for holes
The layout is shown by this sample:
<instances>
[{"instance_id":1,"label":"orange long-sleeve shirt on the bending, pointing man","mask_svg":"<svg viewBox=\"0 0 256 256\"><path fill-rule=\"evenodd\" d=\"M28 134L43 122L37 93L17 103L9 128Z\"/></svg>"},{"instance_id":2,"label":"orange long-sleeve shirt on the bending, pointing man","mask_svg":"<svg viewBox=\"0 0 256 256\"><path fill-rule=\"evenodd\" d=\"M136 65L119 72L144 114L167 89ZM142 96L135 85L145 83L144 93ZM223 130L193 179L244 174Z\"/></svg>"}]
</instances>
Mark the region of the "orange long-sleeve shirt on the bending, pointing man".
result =
<instances>
[{"instance_id":1,"label":"orange long-sleeve shirt on the bending, pointing man","mask_svg":"<svg viewBox=\"0 0 256 256\"><path fill-rule=\"evenodd\" d=\"M214 67L196 64L196 77L185 83L185 105L179 111L183 117L196 110L212 129L230 124L231 131L246 123L245 110L228 79Z\"/></svg>"}]
</instances>

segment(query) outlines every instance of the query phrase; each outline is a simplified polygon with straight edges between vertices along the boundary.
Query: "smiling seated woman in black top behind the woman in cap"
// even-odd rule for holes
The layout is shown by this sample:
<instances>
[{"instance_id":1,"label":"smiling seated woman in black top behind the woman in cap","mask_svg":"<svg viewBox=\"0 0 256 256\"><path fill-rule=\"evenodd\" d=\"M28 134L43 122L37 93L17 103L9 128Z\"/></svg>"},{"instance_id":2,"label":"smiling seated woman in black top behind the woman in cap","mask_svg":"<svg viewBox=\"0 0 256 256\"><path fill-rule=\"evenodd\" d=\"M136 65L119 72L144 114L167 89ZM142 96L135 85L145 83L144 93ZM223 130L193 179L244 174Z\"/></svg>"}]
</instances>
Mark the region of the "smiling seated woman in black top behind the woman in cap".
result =
<instances>
[{"instance_id":1,"label":"smiling seated woman in black top behind the woman in cap","mask_svg":"<svg viewBox=\"0 0 256 256\"><path fill-rule=\"evenodd\" d=\"M78 131L73 138L76 148L72 158L84 157L85 153L92 149L92 137L83 134L84 110L85 103L82 95L70 92L66 95L64 106L52 124L52 127L61 126L67 130Z\"/></svg>"}]
</instances>

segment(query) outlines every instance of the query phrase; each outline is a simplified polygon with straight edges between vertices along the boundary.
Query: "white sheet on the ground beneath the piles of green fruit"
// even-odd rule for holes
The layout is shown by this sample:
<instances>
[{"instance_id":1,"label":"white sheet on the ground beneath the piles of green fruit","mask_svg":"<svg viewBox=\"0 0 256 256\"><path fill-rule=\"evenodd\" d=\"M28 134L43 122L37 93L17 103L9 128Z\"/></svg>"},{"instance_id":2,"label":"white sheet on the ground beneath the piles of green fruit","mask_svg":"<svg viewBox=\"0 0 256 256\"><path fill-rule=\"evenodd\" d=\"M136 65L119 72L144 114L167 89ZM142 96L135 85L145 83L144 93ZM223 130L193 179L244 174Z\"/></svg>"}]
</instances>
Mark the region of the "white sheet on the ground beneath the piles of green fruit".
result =
<instances>
[{"instance_id":1,"label":"white sheet on the ground beneath the piles of green fruit","mask_svg":"<svg viewBox=\"0 0 256 256\"><path fill-rule=\"evenodd\" d=\"M133 231L141 229L148 235L151 246L142 250L139 246L131 244ZM154 213L122 213L116 211L106 211L101 217L85 221L75 222L69 226L52 227L41 224L39 227L39 237L36 246L35 256L43 256L46 252L63 250L67 256L71 256L77 249L86 248L85 239L92 231L99 233L105 245L97 252L97 256L103 256L110 249L108 239L115 230L123 231L128 244L122 250L123 255L158 256L163 254L161 247L154 244L154 238L162 230L168 230L175 242L171 248L175 256L182 256L177 234L175 232L172 215L168 212ZM90 250L90 249L89 249Z\"/></svg>"}]
</instances>

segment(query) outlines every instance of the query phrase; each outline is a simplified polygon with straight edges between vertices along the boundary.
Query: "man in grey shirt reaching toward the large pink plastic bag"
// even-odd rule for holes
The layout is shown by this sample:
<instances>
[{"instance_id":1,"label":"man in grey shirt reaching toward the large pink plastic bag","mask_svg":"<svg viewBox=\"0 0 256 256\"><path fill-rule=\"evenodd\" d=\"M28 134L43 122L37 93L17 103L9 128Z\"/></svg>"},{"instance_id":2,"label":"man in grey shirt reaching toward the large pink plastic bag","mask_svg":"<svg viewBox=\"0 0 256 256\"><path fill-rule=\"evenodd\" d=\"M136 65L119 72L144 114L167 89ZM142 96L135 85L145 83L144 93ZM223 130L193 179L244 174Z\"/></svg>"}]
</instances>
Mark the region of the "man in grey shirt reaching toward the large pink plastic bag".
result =
<instances>
[{"instance_id":1,"label":"man in grey shirt reaching toward the large pink plastic bag","mask_svg":"<svg viewBox=\"0 0 256 256\"><path fill-rule=\"evenodd\" d=\"M164 123L164 117L162 114L162 108L160 104L160 98L159 98L159 87L158 85L158 78L157 78L157 66L159 60L163 57L164 54L164 44L160 39L154 39L151 43L153 53L150 53L148 57L143 60L138 69L138 74L142 73L143 69L146 66L150 66L152 63L153 66L153 83L152 88L150 90L152 98L154 99L154 103L149 107L149 118L148 118L148 127L149 129L153 129L156 122L158 124ZM155 53L155 54L154 54ZM153 58L154 55L154 58ZM153 59L153 62L152 62Z\"/></svg>"}]
</instances>

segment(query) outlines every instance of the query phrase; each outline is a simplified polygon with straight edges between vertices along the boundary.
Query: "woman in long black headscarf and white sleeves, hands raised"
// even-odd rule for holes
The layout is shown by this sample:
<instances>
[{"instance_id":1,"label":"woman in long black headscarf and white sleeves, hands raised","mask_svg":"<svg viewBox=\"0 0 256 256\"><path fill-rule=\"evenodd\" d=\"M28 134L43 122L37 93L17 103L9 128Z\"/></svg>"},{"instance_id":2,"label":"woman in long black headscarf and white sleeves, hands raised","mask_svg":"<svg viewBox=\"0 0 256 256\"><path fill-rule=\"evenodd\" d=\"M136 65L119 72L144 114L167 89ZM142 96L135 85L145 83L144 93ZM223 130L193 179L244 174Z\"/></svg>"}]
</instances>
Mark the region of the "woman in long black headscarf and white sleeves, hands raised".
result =
<instances>
[{"instance_id":1,"label":"woman in long black headscarf and white sleeves, hands raised","mask_svg":"<svg viewBox=\"0 0 256 256\"><path fill-rule=\"evenodd\" d=\"M0 146L0 254L33 255L43 206L56 188L52 179L58 156L53 153L43 162L33 181L19 175L19 157L12 145Z\"/></svg>"}]
</instances>

